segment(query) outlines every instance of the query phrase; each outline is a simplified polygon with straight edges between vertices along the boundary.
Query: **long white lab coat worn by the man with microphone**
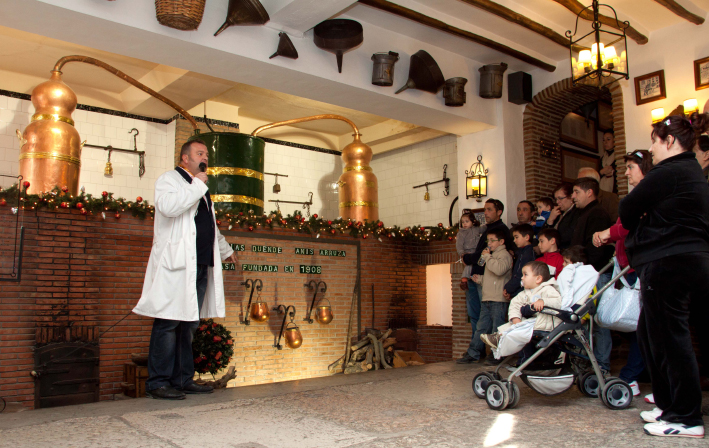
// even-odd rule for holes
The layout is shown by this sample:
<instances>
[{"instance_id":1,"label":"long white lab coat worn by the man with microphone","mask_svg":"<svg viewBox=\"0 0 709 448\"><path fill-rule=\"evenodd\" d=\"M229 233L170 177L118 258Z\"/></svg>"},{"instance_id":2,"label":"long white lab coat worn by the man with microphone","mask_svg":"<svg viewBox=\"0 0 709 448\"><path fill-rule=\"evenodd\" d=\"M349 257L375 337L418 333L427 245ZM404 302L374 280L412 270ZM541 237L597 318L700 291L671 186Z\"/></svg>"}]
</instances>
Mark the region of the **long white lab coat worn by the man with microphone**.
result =
<instances>
[{"instance_id":1,"label":"long white lab coat worn by the man with microphone","mask_svg":"<svg viewBox=\"0 0 709 448\"><path fill-rule=\"evenodd\" d=\"M196 321L224 317L224 283L221 260L234 252L215 220L214 267L209 269L207 292L197 310L197 229L194 217L208 188L195 178L192 183L168 171L155 182L155 230L143 293L133 312L161 319Z\"/></svg>"}]
</instances>

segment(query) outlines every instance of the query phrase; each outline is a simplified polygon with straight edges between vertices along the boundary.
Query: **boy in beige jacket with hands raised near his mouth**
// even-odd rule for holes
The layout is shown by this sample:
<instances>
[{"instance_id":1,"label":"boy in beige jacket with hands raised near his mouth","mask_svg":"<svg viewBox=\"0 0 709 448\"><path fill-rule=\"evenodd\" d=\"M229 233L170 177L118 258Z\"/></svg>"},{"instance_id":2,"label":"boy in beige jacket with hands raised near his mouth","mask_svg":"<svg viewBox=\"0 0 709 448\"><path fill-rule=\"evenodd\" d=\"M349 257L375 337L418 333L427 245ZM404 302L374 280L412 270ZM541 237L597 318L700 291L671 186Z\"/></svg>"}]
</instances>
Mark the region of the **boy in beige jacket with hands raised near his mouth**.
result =
<instances>
[{"instance_id":1,"label":"boy in beige jacket with hands raised near his mouth","mask_svg":"<svg viewBox=\"0 0 709 448\"><path fill-rule=\"evenodd\" d=\"M482 306L475 335L468 348L472 362L480 360L485 353L485 344L480 335L489 333L506 321L508 301L502 295L503 285L512 276L512 256L505 248L505 232L502 228L488 230L487 248L480 258L485 262L485 273L473 275L473 281L482 285Z\"/></svg>"}]
</instances>

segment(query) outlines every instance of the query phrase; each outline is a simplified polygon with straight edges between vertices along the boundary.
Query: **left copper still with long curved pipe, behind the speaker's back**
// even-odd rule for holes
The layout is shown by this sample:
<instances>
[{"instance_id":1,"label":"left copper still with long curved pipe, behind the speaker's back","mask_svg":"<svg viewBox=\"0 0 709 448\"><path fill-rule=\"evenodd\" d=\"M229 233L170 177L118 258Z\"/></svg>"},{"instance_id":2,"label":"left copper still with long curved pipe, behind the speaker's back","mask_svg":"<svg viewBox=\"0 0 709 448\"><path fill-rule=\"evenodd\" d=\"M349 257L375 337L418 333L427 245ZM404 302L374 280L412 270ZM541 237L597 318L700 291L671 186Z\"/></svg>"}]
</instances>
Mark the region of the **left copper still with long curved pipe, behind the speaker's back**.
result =
<instances>
[{"instance_id":1,"label":"left copper still with long curved pipe, behind the speaker's back","mask_svg":"<svg viewBox=\"0 0 709 448\"><path fill-rule=\"evenodd\" d=\"M61 69L67 62L83 62L107 70L171 106L197 129L197 122L186 110L120 70L88 56L65 56L54 65L49 81L32 90L35 113L20 138L20 174L30 182L27 193L38 194L54 187L67 187L72 195L79 193L83 144L71 117L76 109L76 94L62 81ZM112 172L109 168L110 160L106 175Z\"/></svg>"}]
</instances>

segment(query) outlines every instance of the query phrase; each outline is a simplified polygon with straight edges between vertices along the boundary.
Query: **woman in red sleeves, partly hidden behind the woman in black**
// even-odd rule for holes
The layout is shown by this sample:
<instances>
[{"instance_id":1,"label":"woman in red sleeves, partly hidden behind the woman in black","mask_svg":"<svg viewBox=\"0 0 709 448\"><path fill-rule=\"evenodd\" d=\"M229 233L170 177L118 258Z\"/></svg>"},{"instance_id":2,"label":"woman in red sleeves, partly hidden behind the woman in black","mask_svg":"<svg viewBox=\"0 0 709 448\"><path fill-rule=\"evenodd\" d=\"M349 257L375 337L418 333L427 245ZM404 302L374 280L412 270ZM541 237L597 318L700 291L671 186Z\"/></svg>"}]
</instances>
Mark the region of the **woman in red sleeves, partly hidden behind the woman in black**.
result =
<instances>
[{"instance_id":1,"label":"woman in red sleeves, partly hidden behind the woman in black","mask_svg":"<svg viewBox=\"0 0 709 448\"><path fill-rule=\"evenodd\" d=\"M628 178L628 183L636 187L640 181L645 178L645 175L652 169L652 156L648 151L638 150L626 154L625 160L625 176ZM620 218L610 228L596 232L593 234L593 245L601 247L604 244L615 243L615 255L618 261L618 266L621 269L628 266L628 256L625 253L625 237L628 231L623 227ZM638 274L631 269L625 274L625 279L629 285L634 285L638 280ZM628 333L630 339L630 350L628 351L628 360L625 367L620 370L618 377L628 383L633 390L633 395L640 395L638 387L638 377L645 369L640 347L638 346L638 338L636 332Z\"/></svg>"}]
</instances>

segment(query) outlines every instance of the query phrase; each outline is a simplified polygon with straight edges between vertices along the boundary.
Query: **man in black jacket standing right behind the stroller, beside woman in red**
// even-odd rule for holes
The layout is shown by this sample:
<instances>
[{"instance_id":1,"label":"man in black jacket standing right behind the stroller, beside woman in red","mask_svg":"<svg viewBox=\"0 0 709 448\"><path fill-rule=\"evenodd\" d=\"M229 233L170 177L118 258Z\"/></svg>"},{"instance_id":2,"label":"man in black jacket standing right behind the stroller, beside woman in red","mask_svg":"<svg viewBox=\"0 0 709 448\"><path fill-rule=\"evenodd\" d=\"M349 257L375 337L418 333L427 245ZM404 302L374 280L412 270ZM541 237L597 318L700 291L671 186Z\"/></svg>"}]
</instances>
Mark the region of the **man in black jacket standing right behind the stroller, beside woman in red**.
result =
<instances>
[{"instance_id":1,"label":"man in black jacket standing right behind the stroller, beside woman in red","mask_svg":"<svg viewBox=\"0 0 709 448\"><path fill-rule=\"evenodd\" d=\"M574 236L571 238L571 245L584 247L588 264L597 271L601 270L613 257L613 246L596 247L593 245L593 234L609 228L611 221L608 212L598 203L598 181L591 177L582 177L574 182L574 190L571 197L579 209L578 221L574 229ZM598 278L597 288L602 288L611 279L611 272L606 272ZM611 350L613 349L613 339L611 332L607 328L595 326L593 331L595 343L593 353L598 359L601 369L610 371Z\"/></svg>"}]
</instances>

